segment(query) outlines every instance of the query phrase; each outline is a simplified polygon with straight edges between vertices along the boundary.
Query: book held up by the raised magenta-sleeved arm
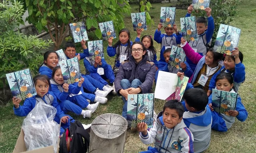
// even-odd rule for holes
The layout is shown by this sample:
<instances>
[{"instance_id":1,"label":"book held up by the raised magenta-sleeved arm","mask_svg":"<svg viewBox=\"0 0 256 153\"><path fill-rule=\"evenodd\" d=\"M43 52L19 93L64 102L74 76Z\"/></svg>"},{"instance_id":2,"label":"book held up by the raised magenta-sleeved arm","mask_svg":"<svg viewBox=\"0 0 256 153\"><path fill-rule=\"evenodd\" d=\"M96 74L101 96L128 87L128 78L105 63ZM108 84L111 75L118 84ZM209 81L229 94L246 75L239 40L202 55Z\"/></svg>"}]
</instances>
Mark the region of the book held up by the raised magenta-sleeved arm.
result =
<instances>
[{"instance_id":1,"label":"book held up by the raised magenta-sleeved arm","mask_svg":"<svg viewBox=\"0 0 256 153\"><path fill-rule=\"evenodd\" d=\"M186 41L195 41L198 39L197 35L197 23L195 16L181 17L181 33L185 37Z\"/></svg>"}]
</instances>

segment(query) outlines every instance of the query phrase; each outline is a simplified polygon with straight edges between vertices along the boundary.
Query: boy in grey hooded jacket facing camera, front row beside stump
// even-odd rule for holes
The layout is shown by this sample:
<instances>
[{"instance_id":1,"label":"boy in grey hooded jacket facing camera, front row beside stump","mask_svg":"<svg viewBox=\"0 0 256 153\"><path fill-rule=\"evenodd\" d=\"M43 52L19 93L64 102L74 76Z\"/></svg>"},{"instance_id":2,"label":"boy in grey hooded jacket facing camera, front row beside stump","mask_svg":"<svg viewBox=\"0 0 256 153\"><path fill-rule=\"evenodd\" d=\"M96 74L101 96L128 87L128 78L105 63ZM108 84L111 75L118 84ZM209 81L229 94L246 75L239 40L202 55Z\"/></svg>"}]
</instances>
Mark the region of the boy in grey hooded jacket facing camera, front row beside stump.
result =
<instances>
[{"instance_id":1,"label":"boy in grey hooded jacket facing camera, front row beside stump","mask_svg":"<svg viewBox=\"0 0 256 153\"><path fill-rule=\"evenodd\" d=\"M139 138L144 144L154 142L155 147L141 153L193 153L193 134L186 127L182 116L184 108L178 100L167 101L150 131L144 122L138 123Z\"/></svg>"}]
</instances>

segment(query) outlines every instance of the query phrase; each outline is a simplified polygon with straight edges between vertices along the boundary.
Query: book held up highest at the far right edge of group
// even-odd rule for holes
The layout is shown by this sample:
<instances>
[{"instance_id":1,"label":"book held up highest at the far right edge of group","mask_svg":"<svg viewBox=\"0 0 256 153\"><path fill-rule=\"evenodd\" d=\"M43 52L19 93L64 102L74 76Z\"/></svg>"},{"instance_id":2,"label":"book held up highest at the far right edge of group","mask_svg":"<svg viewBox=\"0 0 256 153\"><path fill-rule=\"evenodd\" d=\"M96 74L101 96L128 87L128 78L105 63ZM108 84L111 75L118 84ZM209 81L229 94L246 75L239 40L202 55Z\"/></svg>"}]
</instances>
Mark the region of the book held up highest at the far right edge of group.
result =
<instances>
[{"instance_id":1,"label":"book held up highest at the far right edge of group","mask_svg":"<svg viewBox=\"0 0 256 153\"><path fill-rule=\"evenodd\" d=\"M232 50L237 47L241 30L233 26L221 24L214 43L213 51L221 54L231 55Z\"/></svg>"}]
</instances>

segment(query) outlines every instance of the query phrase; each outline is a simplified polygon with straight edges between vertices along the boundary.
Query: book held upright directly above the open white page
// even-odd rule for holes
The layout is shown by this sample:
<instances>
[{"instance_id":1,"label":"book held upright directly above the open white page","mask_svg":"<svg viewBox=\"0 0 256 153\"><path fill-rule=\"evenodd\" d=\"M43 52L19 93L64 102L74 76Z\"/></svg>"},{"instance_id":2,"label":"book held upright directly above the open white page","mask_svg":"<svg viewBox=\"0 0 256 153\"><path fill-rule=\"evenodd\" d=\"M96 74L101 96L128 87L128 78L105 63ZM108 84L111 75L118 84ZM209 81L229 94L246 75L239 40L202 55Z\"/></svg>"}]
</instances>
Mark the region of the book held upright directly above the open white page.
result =
<instances>
[{"instance_id":1,"label":"book held upright directly above the open white page","mask_svg":"<svg viewBox=\"0 0 256 153\"><path fill-rule=\"evenodd\" d=\"M184 63L186 59L186 54L182 48L172 45L171 55L170 55L170 63L172 67L175 67L179 70L182 70L180 67L180 63Z\"/></svg>"}]
</instances>

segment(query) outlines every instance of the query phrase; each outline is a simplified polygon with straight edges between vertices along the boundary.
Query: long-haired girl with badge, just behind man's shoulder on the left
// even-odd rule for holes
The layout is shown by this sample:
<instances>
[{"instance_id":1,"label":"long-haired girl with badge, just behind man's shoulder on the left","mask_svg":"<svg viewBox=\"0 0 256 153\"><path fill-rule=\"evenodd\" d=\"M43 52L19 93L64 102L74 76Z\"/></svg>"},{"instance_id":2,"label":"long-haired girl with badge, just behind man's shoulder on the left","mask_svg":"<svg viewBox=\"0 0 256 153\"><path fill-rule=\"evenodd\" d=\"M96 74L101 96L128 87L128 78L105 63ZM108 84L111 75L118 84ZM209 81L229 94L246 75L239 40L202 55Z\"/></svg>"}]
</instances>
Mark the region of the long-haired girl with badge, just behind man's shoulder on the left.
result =
<instances>
[{"instance_id":1,"label":"long-haired girl with badge, just behind man's shoulder on the left","mask_svg":"<svg viewBox=\"0 0 256 153\"><path fill-rule=\"evenodd\" d=\"M131 55L131 46L132 41L130 41L130 31L126 28L119 31L119 40L115 45L112 46L113 39L108 39L108 48L107 53L108 56L113 57L115 54L115 64L113 67L114 75L117 75L120 64L127 60L127 58Z\"/></svg>"}]
</instances>

